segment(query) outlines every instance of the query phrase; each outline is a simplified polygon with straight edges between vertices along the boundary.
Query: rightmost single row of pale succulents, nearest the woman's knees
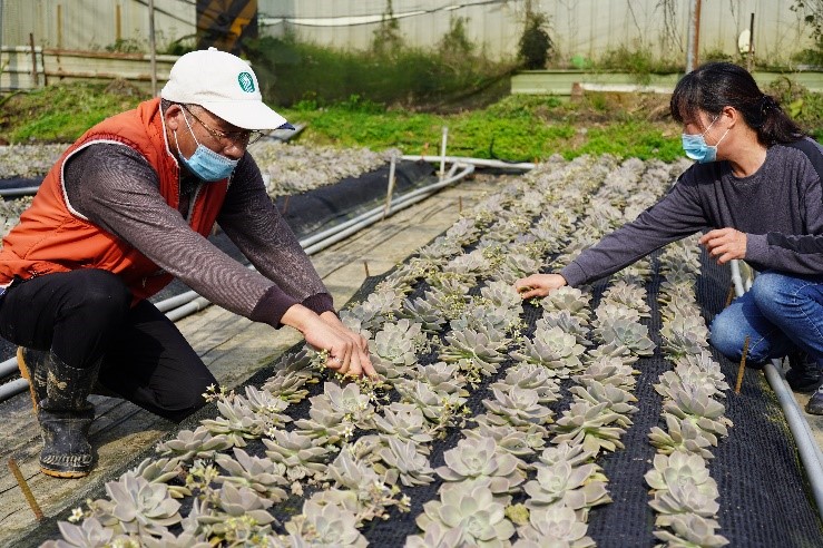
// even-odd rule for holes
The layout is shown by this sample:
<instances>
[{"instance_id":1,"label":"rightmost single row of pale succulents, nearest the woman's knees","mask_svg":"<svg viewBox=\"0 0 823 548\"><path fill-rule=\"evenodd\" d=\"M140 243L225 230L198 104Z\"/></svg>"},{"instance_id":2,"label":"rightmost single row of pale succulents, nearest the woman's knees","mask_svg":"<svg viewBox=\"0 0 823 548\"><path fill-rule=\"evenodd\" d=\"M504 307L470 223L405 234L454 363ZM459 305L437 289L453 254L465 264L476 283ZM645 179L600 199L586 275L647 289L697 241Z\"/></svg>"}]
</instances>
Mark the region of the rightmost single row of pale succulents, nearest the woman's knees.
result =
<instances>
[{"instance_id":1,"label":"rightmost single row of pale succulents, nearest the woman's knees","mask_svg":"<svg viewBox=\"0 0 823 548\"><path fill-rule=\"evenodd\" d=\"M659 258L660 336L674 369L655 384L663 397L665 428L649 433L657 454L646 482L656 512L654 535L664 546L714 548L728 544L717 534L719 492L708 461L732 425L722 402L729 386L707 348L708 330L695 296L700 263L694 239L668 246Z\"/></svg>"}]
</instances>

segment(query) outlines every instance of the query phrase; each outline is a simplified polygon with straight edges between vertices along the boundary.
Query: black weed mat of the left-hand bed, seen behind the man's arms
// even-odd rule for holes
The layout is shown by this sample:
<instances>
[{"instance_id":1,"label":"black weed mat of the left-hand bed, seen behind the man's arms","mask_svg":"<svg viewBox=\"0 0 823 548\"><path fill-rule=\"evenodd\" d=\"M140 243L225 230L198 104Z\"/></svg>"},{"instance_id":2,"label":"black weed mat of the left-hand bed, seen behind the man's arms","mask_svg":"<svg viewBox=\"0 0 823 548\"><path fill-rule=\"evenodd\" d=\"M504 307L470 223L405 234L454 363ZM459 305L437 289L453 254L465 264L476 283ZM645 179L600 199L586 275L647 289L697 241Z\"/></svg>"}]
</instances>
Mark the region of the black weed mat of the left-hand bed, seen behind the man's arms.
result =
<instances>
[{"instance_id":1,"label":"black weed mat of the left-hand bed, seen behind the man's arms","mask_svg":"<svg viewBox=\"0 0 823 548\"><path fill-rule=\"evenodd\" d=\"M400 162L395 167L394 193L405 194L423 184L431 183L434 168L423 162ZM371 209L384 203L389 182L389 166L383 166L359 177L346 177L330 186L290 196L288 202L281 196L276 200L277 209L284 212L292 232L303 238L313 232L325 228L347 217ZM1 188L1 187L0 187ZM248 265L248 260L232 243L225 233L209 236L209 242L219 247L232 258ZM180 281L175 280L151 297L157 303L190 291ZM17 346L0 337L0 361L14 355Z\"/></svg>"}]
</instances>

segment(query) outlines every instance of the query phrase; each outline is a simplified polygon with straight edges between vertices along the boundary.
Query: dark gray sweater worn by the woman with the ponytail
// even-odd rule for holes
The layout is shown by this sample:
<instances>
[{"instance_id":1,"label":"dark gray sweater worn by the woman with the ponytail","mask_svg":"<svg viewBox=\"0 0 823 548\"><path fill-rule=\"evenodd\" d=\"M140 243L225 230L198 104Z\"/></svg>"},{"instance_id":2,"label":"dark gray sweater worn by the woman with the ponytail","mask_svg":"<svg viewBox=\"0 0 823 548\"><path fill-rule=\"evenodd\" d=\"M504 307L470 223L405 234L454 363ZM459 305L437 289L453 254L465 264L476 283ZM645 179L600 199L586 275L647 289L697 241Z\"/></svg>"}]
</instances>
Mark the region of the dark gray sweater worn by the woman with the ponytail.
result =
<instances>
[{"instance_id":1,"label":"dark gray sweater worn by the woman with the ponytail","mask_svg":"<svg viewBox=\"0 0 823 548\"><path fill-rule=\"evenodd\" d=\"M613 274L653 251L711 228L746 234L758 271L823 274L823 149L812 139L774 145L748 177L728 162L695 164L657 204L560 271L569 285Z\"/></svg>"}]
</instances>

